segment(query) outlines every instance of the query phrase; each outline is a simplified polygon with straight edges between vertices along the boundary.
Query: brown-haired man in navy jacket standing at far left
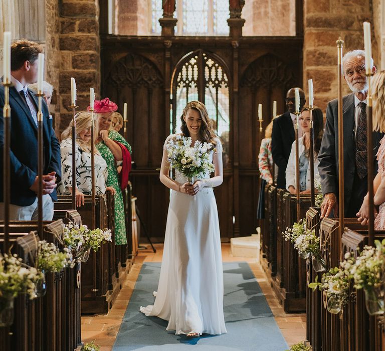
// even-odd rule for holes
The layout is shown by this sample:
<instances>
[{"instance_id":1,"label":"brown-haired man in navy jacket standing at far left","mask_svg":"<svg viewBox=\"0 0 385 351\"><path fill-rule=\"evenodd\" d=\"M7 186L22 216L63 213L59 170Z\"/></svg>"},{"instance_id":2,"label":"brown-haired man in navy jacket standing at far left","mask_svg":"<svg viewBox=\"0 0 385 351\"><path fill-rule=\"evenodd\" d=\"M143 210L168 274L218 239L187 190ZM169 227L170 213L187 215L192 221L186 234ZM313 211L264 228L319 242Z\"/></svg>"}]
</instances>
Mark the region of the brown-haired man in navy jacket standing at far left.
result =
<instances>
[{"instance_id":1,"label":"brown-haired man in navy jacket standing at far left","mask_svg":"<svg viewBox=\"0 0 385 351\"><path fill-rule=\"evenodd\" d=\"M38 216L38 98L28 89L37 81L40 45L19 40L11 46L11 220L35 220ZM4 107L4 86L0 86L0 109ZM43 219L52 220L57 201L56 177L60 177L60 144L43 100ZM3 168L4 117L0 117L0 164ZM4 219L3 172L0 174L0 219Z\"/></svg>"}]
</instances>

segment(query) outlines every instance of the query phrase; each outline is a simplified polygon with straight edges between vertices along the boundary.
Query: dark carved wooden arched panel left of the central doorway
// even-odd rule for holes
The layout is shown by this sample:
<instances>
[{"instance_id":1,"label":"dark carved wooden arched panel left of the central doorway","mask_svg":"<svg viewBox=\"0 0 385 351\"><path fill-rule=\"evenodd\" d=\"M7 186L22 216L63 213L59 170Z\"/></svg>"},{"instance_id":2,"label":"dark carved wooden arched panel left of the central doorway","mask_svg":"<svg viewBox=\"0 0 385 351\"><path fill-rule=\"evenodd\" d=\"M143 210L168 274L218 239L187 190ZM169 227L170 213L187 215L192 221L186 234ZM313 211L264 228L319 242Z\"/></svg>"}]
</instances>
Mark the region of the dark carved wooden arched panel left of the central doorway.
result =
<instances>
[{"instance_id":1,"label":"dark carved wooden arched panel left of the central doorway","mask_svg":"<svg viewBox=\"0 0 385 351\"><path fill-rule=\"evenodd\" d=\"M122 114L127 103L127 141L137 164L130 175L133 195L138 196L137 211L149 233L162 237L167 215L163 204L167 204L168 194L159 182L157 168L167 131L164 119L159 118L164 114L164 81L156 58L129 53L115 59L105 72L103 97L116 102Z\"/></svg>"}]
</instances>

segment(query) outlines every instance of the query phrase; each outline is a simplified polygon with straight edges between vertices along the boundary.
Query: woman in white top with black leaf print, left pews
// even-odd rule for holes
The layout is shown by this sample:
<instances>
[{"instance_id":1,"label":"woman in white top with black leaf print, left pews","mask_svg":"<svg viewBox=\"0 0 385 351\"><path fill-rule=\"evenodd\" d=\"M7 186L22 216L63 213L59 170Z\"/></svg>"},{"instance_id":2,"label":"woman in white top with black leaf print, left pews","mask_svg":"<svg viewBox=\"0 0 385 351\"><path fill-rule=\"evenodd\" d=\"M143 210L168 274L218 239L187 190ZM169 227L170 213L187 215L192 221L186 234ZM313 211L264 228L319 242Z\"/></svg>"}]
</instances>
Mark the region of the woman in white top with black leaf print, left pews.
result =
<instances>
[{"instance_id":1,"label":"woman in white top with black leaf print, left pews","mask_svg":"<svg viewBox=\"0 0 385 351\"><path fill-rule=\"evenodd\" d=\"M84 195L91 195L91 113L79 112L76 120L76 206L84 205ZM97 128L95 128L97 129ZM97 134L97 131L95 131ZM60 144L62 179L58 186L58 195L72 194L72 123L63 131ZM107 163L95 148L95 193L101 195L106 190Z\"/></svg>"}]
</instances>

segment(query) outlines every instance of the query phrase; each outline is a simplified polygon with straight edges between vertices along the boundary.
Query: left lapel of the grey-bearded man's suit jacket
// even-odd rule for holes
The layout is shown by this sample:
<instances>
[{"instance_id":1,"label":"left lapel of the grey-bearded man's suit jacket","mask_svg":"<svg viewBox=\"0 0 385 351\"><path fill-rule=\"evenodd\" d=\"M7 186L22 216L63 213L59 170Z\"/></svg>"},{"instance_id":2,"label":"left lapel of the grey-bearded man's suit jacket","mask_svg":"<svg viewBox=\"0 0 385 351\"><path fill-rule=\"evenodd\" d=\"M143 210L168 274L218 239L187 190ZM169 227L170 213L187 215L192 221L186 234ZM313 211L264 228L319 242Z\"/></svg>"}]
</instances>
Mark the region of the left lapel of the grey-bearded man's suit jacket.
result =
<instances>
[{"instance_id":1,"label":"left lapel of the grey-bearded man's suit jacket","mask_svg":"<svg viewBox=\"0 0 385 351\"><path fill-rule=\"evenodd\" d=\"M354 94L346 96L342 105L343 116L343 144L344 149L352 161L355 162L355 139L354 139Z\"/></svg>"}]
</instances>

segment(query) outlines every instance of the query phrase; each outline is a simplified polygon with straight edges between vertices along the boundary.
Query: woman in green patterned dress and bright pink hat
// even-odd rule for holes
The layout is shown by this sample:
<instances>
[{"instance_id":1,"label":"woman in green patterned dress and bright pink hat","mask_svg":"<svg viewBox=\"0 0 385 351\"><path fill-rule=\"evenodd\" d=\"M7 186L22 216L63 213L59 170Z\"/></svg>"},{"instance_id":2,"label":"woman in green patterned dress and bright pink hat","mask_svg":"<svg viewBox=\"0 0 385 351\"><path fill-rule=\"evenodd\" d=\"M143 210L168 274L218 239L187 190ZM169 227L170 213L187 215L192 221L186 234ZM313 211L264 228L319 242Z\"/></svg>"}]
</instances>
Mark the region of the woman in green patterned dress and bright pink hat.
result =
<instances>
[{"instance_id":1,"label":"woman in green patterned dress and bright pink hat","mask_svg":"<svg viewBox=\"0 0 385 351\"><path fill-rule=\"evenodd\" d=\"M117 108L118 106L108 98L100 101L95 100L94 111L96 112L97 123L99 124L99 135L96 140L96 148L107 162L108 178L106 185L108 187L113 187L116 190L115 245L124 245L127 244L124 204L116 162L123 158L122 148L118 143L124 145L130 153L131 146L117 131L112 129L112 114Z\"/></svg>"}]
</instances>

